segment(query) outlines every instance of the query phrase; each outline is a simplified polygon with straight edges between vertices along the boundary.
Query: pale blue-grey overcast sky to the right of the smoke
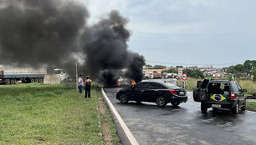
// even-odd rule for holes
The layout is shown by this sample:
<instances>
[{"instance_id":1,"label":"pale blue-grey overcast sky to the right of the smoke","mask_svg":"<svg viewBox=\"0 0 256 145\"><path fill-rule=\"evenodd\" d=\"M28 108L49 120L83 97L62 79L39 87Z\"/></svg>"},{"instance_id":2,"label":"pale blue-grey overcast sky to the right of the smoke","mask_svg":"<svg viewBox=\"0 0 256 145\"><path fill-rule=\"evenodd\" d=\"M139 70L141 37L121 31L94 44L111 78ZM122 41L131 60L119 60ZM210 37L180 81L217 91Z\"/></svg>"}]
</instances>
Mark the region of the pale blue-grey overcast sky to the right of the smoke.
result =
<instances>
[{"instance_id":1,"label":"pale blue-grey overcast sky to the right of the smoke","mask_svg":"<svg viewBox=\"0 0 256 145\"><path fill-rule=\"evenodd\" d=\"M225 67L256 59L256 0L88 0L90 23L129 18L129 48L148 64Z\"/></svg>"}]
</instances>

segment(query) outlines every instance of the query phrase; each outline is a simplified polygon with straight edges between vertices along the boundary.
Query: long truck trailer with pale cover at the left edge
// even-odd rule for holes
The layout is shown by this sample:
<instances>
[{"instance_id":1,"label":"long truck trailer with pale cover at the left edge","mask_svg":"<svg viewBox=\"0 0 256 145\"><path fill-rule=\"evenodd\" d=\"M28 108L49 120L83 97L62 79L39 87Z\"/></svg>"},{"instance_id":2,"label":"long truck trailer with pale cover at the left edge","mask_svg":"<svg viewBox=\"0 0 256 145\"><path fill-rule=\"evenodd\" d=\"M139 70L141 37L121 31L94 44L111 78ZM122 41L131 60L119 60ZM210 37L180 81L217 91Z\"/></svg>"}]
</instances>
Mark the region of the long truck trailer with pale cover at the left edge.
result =
<instances>
[{"instance_id":1,"label":"long truck trailer with pale cover at the left edge","mask_svg":"<svg viewBox=\"0 0 256 145\"><path fill-rule=\"evenodd\" d=\"M0 84L15 84L18 82L44 82L47 67L13 67L0 65Z\"/></svg>"}]
</instances>

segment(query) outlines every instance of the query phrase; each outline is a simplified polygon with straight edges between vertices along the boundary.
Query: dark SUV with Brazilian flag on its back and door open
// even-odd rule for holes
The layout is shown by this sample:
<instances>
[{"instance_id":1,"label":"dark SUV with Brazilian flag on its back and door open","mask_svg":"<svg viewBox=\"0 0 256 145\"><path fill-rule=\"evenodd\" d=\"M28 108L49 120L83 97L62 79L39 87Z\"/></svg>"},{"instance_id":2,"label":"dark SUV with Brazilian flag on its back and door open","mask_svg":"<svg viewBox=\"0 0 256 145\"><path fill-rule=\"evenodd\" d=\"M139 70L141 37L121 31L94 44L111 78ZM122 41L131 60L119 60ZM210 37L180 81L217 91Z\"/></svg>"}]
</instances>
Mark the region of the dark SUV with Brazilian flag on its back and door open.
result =
<instances>
[{"instance_id":1,"label":"dark SUV with Brazilian flag on its back and door open","mask_svg":"<svg viewBox=\"0 0 256 145\"><path fill-rule=\"evenodd\" d=\"M241 107L245 111L246 97L238 82L229 80L208 80L197 82L197 87L193 90L195 102L201 102L201 111L207 112L207 108L229 108L233 113L238 113Z\"/></svg>"}]
</instances>

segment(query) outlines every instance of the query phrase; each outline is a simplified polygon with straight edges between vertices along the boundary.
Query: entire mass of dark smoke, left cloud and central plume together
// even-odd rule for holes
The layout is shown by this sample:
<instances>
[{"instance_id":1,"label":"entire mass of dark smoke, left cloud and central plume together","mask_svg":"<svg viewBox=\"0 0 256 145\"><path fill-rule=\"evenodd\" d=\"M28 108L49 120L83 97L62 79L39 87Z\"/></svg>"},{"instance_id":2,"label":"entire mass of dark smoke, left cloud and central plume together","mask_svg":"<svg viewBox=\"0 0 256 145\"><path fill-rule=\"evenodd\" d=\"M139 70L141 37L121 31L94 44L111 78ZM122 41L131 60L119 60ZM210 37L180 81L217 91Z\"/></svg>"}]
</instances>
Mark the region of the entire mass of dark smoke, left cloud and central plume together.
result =
<instances>
[{"instance_id":1,"label":"entire mass of dark smoke, left cloud and central plume together","mask_svg":"<svg viewBox=\"0 0 256 145\"><path fill-rule=\"evenodd\" d=\"M121 77L142 80L143 56L128 49L126 18L111 11L87 25L90 13L74 1L23 0L0 7L0 62L48 65L90 75L105 84ZM123 71L125 70L125 72Z\"/></svg>"}]
</instances>

